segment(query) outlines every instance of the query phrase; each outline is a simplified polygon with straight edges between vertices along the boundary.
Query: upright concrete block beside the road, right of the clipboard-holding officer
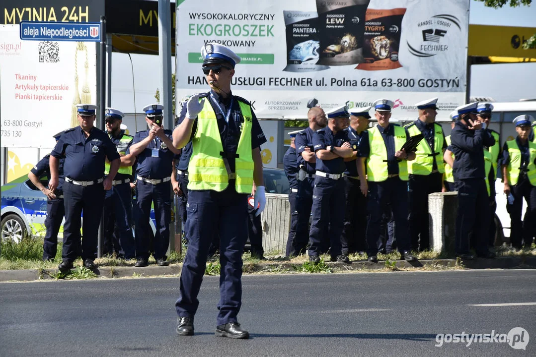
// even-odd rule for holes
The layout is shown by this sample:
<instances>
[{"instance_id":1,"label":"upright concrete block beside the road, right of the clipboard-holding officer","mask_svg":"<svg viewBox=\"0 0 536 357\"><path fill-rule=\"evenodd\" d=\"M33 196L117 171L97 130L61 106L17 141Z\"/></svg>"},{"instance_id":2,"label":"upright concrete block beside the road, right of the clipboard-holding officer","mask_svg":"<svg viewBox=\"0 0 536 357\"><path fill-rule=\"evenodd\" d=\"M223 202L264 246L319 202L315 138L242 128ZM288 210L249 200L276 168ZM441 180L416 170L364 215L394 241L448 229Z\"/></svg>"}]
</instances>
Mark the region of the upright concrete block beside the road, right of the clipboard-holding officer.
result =
<instances>
[{"instance_id":1,"label":"upright concrete block beside the road, right of the clipboard-holding officer","mask_svg":"<svg viewBox=\"0 0 536 357\"><path fill-rule=\"evenodd\" d=\"M455 252L457 192L438 192L428 195L430 247L436 252Z\"/></svg>"}]
</instances>

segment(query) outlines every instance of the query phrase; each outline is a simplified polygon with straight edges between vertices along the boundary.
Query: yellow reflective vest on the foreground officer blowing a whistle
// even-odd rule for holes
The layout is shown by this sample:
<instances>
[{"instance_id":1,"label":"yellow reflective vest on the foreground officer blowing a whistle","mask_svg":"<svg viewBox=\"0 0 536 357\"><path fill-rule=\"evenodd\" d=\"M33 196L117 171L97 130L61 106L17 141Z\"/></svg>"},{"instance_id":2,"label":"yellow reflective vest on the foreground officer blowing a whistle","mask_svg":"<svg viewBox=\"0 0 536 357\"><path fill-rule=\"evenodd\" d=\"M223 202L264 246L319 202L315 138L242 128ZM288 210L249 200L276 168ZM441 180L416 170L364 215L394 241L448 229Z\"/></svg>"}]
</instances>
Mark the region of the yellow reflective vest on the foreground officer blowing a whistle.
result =
<instances>
[{"instance_id":1,"label":"yellow reflective vest on the foreground officer blowing a whistle","mask_svg":"<svg viewBox=\"0 0 536 357\"><path fill-rule=\"evenodd\" d=\"M200 98L202 99L202 98ZM235 99L237 99L235 97ZM235 157L235 172L227 172L222 153L218 121L209 98L205 98L203 110L197 116L197 130L192 138L192 155L188 165L188 189L199 191L211 189L224 191L229 180L236 178L235 188L238 193L251 193L253 188L253 157L251 155L251 106L238 100L244 118Z\"/></svg>"}]
</instances>

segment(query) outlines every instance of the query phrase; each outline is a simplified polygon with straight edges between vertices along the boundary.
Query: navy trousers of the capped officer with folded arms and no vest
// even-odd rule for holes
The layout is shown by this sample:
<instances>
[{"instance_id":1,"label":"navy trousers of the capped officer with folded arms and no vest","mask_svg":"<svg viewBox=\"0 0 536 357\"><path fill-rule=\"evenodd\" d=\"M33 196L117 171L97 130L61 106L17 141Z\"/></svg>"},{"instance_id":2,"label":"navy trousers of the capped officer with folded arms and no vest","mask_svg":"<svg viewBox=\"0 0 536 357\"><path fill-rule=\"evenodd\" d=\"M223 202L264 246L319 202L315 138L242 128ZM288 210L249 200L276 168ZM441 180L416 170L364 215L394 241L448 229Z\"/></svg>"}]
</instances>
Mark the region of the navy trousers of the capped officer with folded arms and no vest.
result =
<instances>
[{"instance_id":1,"label":"navy trousers of the capped officer with folded arms and no vest","mask_svg":"<svg viewBox=\"0 0 536 357\"><path fill-rule=\"evenodd\" d=\"M335 259L341 254L340 235L343 232L345 193L344 179L333 180L317 176L315 188L312 191L312 224L309 240L309 256L319 255L323 252L322 241L325 237L326 227L329 227L327 236L330 239L331 258Z\"/></svg>"}]
</instances>

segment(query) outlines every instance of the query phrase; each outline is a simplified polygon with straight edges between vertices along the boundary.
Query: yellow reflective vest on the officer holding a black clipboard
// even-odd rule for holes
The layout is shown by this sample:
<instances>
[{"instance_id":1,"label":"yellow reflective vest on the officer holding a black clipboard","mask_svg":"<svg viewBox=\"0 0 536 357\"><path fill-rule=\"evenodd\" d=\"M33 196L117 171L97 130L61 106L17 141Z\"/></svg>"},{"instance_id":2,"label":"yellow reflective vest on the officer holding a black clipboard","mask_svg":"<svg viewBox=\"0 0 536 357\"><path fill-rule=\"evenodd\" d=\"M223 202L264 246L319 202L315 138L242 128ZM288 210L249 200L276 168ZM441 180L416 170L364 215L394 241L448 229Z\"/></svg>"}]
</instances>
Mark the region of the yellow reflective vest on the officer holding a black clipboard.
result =
<instances>
[{"instance_id":1,"label":"yellow reflective vest on the officer holding a black clipboard","mask_svg":"<svg viewBox=\"0 0 536 357\"><path fill-rule=\"evenodd\" d=\"M392 124L390 124L392 125ZM393 125L394 129L394 150L398 151L406 142L406 130L403 127ZM375 126L369 131L370 153L367 159L367 180L368 181L385 181L388 178L387 165L387 148L383 141L383 136ZM397 159L398 175L401 180L408 180L407 160Z\"/></svg>"}]
</instances>

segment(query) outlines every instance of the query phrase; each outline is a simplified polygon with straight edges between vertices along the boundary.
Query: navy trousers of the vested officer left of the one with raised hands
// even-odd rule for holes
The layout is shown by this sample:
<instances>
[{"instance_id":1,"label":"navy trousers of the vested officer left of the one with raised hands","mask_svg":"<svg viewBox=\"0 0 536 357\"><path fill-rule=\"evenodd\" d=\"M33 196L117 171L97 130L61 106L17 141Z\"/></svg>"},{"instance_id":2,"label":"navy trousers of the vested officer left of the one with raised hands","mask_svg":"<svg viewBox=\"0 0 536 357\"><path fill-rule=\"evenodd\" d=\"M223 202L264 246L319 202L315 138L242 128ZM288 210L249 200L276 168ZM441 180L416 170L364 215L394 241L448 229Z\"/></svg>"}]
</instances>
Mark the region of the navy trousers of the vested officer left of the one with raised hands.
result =
<instances>
[{"instance_id":1,"label":"navy trousers of the vested officer left of the one with raised hands","mask_svg":"<svg viewBox=\"0 0 536 357\"><path fill-rule=\"evenodd\" d=\"M132 236L132 192L130 183L111 187L105 195L104 254L115 254L124 259L136 257Z\"/></svg>"}]
</instances>

